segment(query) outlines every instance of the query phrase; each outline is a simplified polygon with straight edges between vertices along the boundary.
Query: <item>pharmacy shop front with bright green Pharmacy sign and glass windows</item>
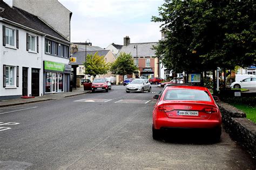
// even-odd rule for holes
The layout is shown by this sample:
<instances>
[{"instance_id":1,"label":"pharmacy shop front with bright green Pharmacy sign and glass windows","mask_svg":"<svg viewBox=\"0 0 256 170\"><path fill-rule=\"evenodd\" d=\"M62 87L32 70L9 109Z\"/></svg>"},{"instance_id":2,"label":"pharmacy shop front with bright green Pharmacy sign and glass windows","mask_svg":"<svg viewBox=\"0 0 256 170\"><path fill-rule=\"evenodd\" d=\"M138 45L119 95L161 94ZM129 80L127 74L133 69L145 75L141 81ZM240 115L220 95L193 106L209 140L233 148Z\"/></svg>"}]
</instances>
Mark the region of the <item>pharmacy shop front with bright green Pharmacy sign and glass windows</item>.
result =
<instances>
[{"instance_id":1,"label":"pharmacy shop front with bright green Pharmacy sign and glass windows","mask_svg":"<svg viewBox=\"0 0 256 170\"><path fill-rule=\"evenodd\" d=\"M71 66L44 61L44 94L69 91Z\"/></svg>"}]
</instances>

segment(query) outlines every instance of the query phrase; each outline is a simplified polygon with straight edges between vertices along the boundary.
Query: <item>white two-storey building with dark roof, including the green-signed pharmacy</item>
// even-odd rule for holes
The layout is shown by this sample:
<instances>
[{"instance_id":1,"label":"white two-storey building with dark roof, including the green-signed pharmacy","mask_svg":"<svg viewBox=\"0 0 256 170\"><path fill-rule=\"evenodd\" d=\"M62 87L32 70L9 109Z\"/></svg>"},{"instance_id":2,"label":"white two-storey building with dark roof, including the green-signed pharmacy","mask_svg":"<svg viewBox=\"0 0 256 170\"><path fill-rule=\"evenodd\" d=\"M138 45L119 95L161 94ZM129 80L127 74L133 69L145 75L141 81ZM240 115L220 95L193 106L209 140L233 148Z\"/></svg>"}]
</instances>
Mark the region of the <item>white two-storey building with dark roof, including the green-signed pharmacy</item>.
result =
<instances>
[{"instance_id":1,"label":"white two-storey building with dark roof, including the green-signed pharmacy","mask_svg":"<svg viewBox=\"0 0 256 170\"><path fill-rule=\"evenodd\" d=\"M69 40L9 5L0 1L0 100L69 91Z\"/></svg>"}]
</instances>

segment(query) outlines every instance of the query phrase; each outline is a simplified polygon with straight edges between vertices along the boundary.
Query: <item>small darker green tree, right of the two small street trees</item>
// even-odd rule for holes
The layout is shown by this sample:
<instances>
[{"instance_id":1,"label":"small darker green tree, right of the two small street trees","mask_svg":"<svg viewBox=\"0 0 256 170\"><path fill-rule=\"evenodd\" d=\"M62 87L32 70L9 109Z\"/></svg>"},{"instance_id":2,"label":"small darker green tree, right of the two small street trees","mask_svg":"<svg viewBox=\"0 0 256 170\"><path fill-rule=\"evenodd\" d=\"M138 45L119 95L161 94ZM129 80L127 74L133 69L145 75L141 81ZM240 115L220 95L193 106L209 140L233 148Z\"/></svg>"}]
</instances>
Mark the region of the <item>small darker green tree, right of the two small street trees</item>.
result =
<instances>
[{"instance_id":1,"label":"small darker green tree, right of the two small street trees","mask_svg":"<svg viewBox=\"0 0 256 170\"><path fill-rule=\"evenodd\" d=\"M116 61L111 64L110 71L112 74L124 75L136 73L137 67L131 54L121 52Z\"/></svg>"}]
</instances>

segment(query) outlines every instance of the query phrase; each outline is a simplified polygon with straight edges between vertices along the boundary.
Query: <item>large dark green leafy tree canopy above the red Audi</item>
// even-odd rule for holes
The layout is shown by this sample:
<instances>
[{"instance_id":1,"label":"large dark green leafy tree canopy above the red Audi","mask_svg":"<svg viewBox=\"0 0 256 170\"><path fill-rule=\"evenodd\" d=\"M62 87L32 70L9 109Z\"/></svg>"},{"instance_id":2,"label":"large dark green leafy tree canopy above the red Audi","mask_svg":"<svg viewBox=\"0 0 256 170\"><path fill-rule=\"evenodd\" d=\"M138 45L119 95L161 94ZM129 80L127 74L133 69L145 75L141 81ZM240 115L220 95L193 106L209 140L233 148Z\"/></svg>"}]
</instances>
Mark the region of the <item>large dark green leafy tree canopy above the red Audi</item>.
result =
<instances>
[{"instance_id":1,"label":"large dark green leafy tree canopy above the red Audi","mask_svg":"<svg viewBox=\"0 0 256 170\"><path fill-rule=\"evenodd\" d=\"M177 72L250 66L256 52L255 2L165 0L159 16L152 17L166 35L153 47L156 56Z\"/></svg>"}]
</instances>

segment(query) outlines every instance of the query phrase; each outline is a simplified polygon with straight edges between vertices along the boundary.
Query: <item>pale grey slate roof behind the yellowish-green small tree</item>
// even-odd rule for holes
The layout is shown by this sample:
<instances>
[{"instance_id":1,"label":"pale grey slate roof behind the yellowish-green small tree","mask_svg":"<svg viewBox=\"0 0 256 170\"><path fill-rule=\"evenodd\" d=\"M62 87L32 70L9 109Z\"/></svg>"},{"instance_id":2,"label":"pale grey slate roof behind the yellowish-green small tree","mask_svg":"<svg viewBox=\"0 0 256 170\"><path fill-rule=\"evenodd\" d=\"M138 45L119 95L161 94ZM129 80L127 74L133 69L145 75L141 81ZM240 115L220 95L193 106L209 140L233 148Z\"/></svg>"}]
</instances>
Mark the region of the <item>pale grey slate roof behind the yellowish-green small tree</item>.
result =
<instances>
[{"instance_id":1,"label":"pale grey slate roof behind the yellowish-green small tree","mask_svg":"<svg viewBox=\"0 0 256 170\"><path fill-rule=\"evenodd\" d=\"M86 54L94 55L96 52L98 52L99 56L105 56L107 53L109 53L110 50L102 50L102 51L87 51ZM85 61L85 51L78 51L73 53L72 57L77 58L77 62L71 62L70 65L83 65L83 62Z\"/></svg>"}]
</instances>

